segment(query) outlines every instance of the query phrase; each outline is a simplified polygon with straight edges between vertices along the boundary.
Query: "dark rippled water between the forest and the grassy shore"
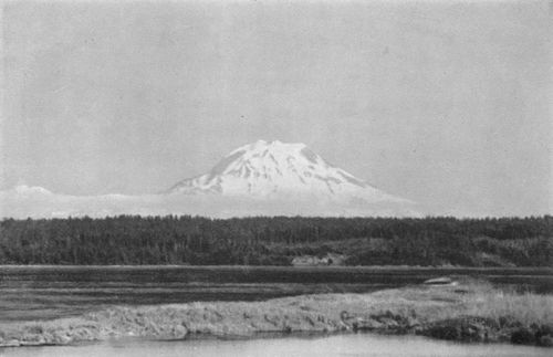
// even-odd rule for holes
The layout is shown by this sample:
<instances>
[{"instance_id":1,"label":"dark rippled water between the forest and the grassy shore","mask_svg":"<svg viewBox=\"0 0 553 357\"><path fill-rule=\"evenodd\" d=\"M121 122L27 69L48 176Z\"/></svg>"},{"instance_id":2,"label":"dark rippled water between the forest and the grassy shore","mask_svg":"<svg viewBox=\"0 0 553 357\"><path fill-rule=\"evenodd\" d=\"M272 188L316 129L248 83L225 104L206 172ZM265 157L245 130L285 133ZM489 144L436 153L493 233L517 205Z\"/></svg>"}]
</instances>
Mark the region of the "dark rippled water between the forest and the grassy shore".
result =
<instances>
[{"instance_id":1,"label":"dark rippled water between the forest and the grassy shore","mask_svg":"<svg viewBox=\"0 0 553 357\"><path fill-rule=\"evenodd\" d=\"M363 293L456 274L553 292L552 269L0 265L0 322L49 319L109 305Z\"/></svg>"}]
</instances>

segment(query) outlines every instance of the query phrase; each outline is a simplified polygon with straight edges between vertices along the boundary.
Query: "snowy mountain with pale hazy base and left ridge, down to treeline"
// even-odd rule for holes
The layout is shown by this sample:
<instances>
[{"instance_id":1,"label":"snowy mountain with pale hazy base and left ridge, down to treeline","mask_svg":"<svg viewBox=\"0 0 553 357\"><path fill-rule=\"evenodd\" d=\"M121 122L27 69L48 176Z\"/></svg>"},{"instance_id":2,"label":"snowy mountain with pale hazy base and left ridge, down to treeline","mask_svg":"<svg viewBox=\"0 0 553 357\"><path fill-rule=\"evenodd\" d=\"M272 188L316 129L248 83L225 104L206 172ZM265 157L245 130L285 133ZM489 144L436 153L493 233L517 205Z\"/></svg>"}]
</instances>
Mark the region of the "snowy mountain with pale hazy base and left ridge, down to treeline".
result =
<instances>
[{"instance_id":1,"label":"snowy mountain with pale hazy base and left ridge, down to treeline","mask_svg":"<svg viewBox=\"0 0 553 357\"><path fill-rule=\"evenodd\" d=\"M209 172L160 195L71 196L35 186L0 191L0 218L420 216L415 206L330 165L303 144L263 140L239 147Z\"/></svg>"}]
</instances>

